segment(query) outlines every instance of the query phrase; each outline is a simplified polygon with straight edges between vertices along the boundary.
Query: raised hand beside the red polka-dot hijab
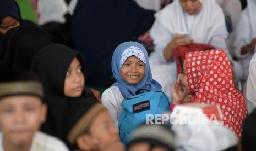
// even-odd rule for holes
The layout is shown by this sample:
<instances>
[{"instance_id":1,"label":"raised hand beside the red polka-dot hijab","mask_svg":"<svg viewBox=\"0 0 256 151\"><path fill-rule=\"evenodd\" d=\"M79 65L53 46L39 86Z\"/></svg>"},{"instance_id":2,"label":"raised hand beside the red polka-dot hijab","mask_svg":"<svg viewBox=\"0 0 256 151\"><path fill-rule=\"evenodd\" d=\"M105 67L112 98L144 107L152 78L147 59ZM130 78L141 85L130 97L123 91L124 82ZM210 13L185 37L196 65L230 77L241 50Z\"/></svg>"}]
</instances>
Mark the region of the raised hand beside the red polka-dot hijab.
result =
<instances>
[{"instance_id":1,"label":"raised hand beside the red polka-dot hijab","mask_svg":"<svg viewBox=\"0 0 256 151\"><path fill-rule=\"evenodd\" d=\"M183 89L183 84L181 83L182 74L179 73L178 79L172 86L172 97L173 97L173 104L181 104L184 97L187 95L187 92Z\"/></svg>"}]
</instances>

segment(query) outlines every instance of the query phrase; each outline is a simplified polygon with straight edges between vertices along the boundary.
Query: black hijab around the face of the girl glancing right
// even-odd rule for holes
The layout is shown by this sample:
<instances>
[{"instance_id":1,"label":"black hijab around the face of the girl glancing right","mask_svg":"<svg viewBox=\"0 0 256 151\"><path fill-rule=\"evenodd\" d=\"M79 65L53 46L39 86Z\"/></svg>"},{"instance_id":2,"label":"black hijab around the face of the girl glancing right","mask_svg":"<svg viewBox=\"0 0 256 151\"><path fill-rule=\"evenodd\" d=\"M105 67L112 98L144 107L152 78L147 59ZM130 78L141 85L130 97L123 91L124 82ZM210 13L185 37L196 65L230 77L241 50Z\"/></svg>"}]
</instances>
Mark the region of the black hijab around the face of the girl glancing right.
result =
<instances>
[{"instance_id":1,"label":"black hijab around the face of the girl glancing right","mask_svg":"<svg viewBox=\"0 0 256 151\"><path fill-rule=\"evenodd\" d=\"M66 74L75 57L80 61L85 75L85 62L81 54L61 44L50 44L41 49L31 67L43 83L48 103L47 120L41 130L63 141L66 141L67 135L63 124L70 104L73 101L97 101L90 89L84 89L83 94L77 98L64 96Z\"/></svg>"}]
</instances>

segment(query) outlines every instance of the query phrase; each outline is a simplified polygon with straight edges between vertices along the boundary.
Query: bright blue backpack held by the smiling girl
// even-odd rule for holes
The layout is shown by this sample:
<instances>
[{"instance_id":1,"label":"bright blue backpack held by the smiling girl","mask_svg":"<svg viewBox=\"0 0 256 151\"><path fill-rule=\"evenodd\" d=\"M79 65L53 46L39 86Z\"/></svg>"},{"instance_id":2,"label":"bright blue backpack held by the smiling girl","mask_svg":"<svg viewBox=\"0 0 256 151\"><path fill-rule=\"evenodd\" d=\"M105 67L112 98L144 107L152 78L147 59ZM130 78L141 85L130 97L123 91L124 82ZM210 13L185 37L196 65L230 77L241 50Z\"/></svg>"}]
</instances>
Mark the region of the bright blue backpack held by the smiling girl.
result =
<instances>
[{"instance_id":1,"label":"bright blue backpack held by the smiling girl","mask_svg":"<svg viewBox=\"0 0 256 151\"><path fill-rule=\"evenodd\" d=\"M170 112L168 97L162 91L149 91L128 97L122 102L122 111L118 119L121 141L127 145L132 131L146 123L147 114Z\"/></svg>"}]
</instances>

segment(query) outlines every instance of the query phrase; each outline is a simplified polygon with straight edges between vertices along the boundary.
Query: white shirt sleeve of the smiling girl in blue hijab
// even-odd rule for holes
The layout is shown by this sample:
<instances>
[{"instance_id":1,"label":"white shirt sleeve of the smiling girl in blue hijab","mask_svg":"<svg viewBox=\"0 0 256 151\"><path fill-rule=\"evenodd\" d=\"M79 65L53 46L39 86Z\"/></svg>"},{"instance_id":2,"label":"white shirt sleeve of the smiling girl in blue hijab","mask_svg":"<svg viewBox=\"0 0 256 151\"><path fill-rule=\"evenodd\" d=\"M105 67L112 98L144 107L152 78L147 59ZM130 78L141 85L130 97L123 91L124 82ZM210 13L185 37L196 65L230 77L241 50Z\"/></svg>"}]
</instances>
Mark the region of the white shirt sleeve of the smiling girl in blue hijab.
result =
<instances>
[{"instance_id":1,"label":"white shirt sleeve of the smiling girl in blue hijab","mask_svg":"<svg viewBox=\"0 0 256 151\"><path fill-rule=\"evenodd\" d=\"M102 104L107 108L108 112L110 112L116 127L118 127L118 119L122 110L121 103L123 100L124 98L117 86L111 86L106 89L101 96Z\"/></svg>"}]
</instances>

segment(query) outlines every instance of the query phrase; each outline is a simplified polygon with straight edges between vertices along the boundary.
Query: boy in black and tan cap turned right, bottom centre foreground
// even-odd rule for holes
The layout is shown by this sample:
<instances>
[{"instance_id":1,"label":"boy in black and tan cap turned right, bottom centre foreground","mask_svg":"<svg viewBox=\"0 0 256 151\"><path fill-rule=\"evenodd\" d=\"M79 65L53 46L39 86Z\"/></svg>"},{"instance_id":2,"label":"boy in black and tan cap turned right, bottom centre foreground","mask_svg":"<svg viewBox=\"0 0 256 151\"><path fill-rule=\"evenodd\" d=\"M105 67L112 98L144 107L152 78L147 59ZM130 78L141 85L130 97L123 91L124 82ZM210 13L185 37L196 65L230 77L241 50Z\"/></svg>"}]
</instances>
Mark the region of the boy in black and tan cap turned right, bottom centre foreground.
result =
<instances>
[{"instance_id":1,"label":"boy in black and tan cap turned right, bottom centre foreground","mask_svg":"<svg viewBox=\"0 0 256 151\"><path fill-rule=\"evenodd\" d=\"M124 150L107 109L98 102L74 102L67 113L70 150Z\"/></svg>"}]
</instances>

